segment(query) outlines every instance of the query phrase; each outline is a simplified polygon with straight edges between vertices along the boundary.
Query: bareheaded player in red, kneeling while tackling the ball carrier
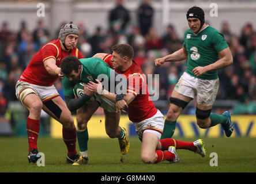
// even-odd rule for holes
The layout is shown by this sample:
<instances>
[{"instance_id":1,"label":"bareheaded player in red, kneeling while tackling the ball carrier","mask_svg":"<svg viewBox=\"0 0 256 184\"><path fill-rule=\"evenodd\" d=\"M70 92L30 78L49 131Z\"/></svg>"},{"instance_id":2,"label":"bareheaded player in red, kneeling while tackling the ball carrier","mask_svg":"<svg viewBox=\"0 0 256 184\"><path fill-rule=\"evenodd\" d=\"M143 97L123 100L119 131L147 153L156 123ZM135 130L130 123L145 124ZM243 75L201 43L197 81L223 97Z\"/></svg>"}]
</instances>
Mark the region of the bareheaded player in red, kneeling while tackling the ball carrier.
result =
<instances>
[{"instance_id":1,"label":"bareheaded player in red, kneeling while tackling the ball carrier","mask_svg":"<svg viewBox=\"0 0 256 184\"><path fill-rule=\"evenodd\" d=\"M194 142L174 139L160 140L164 128L164 116L160 110L156 109L149 97L145 75L141 67L133 60L133 48L128 44L119 44L111 49L112 55L97 53L93 57L100 57L116 72L126 76L127 93L121 96L101 90L102 85L99 80L97 80L97 84L89 82L87 87L88 90L98 92L112 102L116 102L117 110L125 111L127 108L129 119L133 122L137 135L142 141L142 161L144 163L158 163L163 160L168 160L171 163L178 162L176 149L190 150L204 157L206 150L201 139Z\"/></svg>"}]
</instances>

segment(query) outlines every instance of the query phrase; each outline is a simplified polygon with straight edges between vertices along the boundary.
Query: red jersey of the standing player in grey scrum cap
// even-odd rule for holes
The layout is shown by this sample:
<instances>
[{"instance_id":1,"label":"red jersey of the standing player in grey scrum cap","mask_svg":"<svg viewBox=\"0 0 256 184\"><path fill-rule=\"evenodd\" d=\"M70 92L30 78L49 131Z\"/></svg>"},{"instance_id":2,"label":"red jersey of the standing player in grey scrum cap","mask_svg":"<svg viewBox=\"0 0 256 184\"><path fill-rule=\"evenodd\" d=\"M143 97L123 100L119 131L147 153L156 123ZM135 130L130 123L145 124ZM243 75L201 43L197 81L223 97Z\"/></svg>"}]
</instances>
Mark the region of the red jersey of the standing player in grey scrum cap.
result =
<instances>
[{"instance_id":1,"label":"red jersey of the standing player in grey scrum cap","mask_svg":"<svg viewBox=\"0 0 256 184\"><path fill-rule=\"evenodd\" d=\"M78 59L84 58L78 48L75 47L71 51L63 51L59 39L50 41L33 56L28 67L21 74L20 81L39 86L53 85L58 79L58 75L49 74L44 68L43 62L52 57L56 60L56 65L59 66L61 60L68 55L76 56Z\"/></svg>"}]
</instances>

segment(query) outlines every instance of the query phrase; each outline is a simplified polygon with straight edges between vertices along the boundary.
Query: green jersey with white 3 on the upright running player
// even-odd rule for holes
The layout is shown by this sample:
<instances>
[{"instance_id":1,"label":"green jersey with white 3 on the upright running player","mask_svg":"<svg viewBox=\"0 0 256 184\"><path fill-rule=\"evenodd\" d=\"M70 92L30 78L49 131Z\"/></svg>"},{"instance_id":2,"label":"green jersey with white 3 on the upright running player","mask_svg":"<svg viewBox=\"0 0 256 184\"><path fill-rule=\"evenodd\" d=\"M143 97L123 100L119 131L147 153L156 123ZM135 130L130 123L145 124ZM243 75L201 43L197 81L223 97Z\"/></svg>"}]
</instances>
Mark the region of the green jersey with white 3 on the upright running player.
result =
<instances>
[{"instance_id":1,"label":"green jersey with white 3 on the upright running player","mask_svg":"<svg viewBox=\"0 0 256 184\"><path fill-rule=\"evenodd\" d=\"M208 71L198 77L193 74L192 70L195 67L204 67L219 60L218 52L228 47L223 34L211 26L207 26L197 35L191 29L187 29L184 34L183 47L186 48L188 53L186 70L188 74L205 80L218 78L217 70Z\"/></svg>"}]
</instances>

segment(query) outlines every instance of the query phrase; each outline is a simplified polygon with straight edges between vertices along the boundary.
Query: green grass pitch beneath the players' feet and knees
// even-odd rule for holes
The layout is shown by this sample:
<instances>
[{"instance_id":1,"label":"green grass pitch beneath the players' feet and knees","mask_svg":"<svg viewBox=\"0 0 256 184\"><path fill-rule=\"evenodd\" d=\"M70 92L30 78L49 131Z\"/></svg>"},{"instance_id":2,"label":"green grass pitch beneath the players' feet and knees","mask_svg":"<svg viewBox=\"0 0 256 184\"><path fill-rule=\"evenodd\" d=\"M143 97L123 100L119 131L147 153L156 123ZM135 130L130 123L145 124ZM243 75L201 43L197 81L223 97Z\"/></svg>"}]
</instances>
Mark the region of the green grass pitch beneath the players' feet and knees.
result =
<instances>
[{"instance_id":1,"label":"green grass pitch beneath the players' feet and knees","mask_svg":"<svg viewBox=\"0 0 256 184\"><path fill-rule=\"evenodd\" d=\"M194 141L174 137L182 141ZM130 137L130 150L122 156L117 139L89 139L89 164L71 166L66 163L66 146L62 139L39 137L37 147L45 155L45 166L28 163L27 137L0 137L0 172L74 172L74 173L175 173L175 172L256 172L256 139L204 138L207 155L201 158L187 150L177 150L179 163L164 161L157 164L144 164L140 159L141 142ZM78 144L77 144L78 150ZM217 166L210 166L210 153L217 154ZM215 157L216 159L216 157ZM216 163L216 162L214 162Z\"/></svg>"}]
</instances>

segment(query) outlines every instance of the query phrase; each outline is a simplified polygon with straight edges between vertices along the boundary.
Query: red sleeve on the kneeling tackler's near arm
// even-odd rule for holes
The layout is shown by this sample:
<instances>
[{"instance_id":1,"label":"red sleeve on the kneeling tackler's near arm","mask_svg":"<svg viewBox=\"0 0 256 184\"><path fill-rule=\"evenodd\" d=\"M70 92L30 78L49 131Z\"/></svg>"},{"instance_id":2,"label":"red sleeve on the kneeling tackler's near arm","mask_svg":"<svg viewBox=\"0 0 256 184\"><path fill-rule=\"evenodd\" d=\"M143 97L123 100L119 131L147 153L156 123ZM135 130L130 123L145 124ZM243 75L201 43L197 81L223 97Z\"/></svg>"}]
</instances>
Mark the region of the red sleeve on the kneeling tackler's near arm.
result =
<instances>
[{"instance_id":1,"label":"red sleeve on the kneeling tackler's near arm","mask_svg":"<svg viewBox=\"0 0 256 184\"><path fill-rule=\"evenodd\" d=\"M132 74L128 77L127 93L133 94L135 97L137 94L146 94L146 81L142 74Z\"/></svg>"}]
</instances>

